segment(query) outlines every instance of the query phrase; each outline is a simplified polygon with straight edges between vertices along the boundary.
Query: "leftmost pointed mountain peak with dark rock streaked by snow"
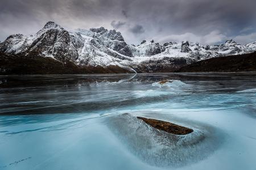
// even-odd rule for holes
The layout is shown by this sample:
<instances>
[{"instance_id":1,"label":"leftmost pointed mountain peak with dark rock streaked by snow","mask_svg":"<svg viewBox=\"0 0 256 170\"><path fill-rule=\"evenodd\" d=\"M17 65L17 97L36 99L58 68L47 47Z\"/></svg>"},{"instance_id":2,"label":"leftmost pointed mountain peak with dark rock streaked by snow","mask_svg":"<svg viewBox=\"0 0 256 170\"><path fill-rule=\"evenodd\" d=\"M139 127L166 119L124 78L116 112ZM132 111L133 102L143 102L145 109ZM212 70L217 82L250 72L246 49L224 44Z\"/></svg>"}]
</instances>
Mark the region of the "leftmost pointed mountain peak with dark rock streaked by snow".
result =
<instances>
[{"instance_id":1,"label":"leftmost pointed mountain peak with dark rock streaked by snow","mask_svg":"<svg viewBox=\"0 0 256 170\"><path fill-rule=\"evenodd\" d=\"M48 22L35 35L11 35L0 46L1 52L50 56L65 62L75 62L79 54L76 47L81 44L77 37L53 22ZM74 44L73 44L74 42ZM76 46L76 47L75 47Z\"/></svg>"}]
</instances>

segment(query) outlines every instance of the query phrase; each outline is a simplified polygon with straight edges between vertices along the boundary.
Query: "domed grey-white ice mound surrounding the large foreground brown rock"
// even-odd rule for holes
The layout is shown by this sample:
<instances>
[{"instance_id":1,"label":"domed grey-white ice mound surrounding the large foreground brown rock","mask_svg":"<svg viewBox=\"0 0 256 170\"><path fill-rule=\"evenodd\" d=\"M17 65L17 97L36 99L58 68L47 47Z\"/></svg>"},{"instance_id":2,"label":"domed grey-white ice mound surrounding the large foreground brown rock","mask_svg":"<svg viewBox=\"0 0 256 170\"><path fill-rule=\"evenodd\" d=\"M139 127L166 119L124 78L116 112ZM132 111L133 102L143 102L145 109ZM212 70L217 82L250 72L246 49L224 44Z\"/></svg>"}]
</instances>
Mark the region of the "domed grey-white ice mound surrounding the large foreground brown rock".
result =
<instances>
[{"instance_id":1,"label":"domed grey-white ice mound surrounding the large foreground brown rock","mask_svg":"<svg viewBox=\"0 0 256 170\"><path fill-rule=\"evenodd\" d=\"M106 124L123 145L150 165L183 167L199 162L212 154L223 138L214 128L195 122L186 125L194 129L187 135L167 133L139 120L138 116L141 115L125 113L112 116L106 120ZM176 123L184 125L183 121Z\"/></svg>"}]
</instances>

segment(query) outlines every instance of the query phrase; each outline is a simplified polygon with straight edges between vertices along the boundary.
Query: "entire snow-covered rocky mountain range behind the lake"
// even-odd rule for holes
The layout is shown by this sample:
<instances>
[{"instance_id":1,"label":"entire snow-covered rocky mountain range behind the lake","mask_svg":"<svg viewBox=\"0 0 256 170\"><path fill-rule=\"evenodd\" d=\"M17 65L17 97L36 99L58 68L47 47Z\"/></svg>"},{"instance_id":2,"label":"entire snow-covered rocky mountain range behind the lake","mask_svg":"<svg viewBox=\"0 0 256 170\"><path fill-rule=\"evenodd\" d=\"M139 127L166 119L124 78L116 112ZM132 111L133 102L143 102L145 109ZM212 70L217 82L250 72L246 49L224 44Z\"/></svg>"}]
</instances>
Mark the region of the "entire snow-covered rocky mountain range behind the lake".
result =
<instances>
[{"instance_id":1,"label":"entire snow-covered rocky mountain range behind the lake","mask_svg":"<svg viewBox=\"0 0 256 170\"><path fill-rule=\"evenodd\" d=\"M101 28L66 29L48 22L35 35L11 35L0 43L0 52L52 57L80 66L119 66L127 70L151 72L175 70L201 59L256 50L256 42L240 45L233 40L225 44L200 45L196 42L143 40L138 46L128 45L120 32Z\"/></svg>"}]
</instances>

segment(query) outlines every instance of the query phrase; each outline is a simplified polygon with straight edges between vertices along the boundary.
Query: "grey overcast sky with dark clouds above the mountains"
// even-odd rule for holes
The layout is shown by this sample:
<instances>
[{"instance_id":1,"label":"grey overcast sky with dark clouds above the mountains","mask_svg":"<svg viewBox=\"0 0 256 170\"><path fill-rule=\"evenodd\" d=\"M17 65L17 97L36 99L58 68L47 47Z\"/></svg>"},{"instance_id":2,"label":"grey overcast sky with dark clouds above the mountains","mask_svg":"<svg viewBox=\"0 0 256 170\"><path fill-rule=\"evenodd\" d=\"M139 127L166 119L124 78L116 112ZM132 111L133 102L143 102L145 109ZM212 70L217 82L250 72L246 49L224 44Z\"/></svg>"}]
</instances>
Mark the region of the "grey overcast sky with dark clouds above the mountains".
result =
<instances>
[{"instance_id":1,"label":"grey overcast sky with dark clouds above the mountains","mask_svg":"<svg viewBox=\"0 0 256 170\"><path fill-rule=\"evenodd\" d=\"M65 28L117 29L144 39L214 44L256 41L255 0L0 0L0 41L30 35L48 21Z\"/></svg>"}]
</instances>

